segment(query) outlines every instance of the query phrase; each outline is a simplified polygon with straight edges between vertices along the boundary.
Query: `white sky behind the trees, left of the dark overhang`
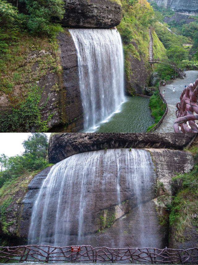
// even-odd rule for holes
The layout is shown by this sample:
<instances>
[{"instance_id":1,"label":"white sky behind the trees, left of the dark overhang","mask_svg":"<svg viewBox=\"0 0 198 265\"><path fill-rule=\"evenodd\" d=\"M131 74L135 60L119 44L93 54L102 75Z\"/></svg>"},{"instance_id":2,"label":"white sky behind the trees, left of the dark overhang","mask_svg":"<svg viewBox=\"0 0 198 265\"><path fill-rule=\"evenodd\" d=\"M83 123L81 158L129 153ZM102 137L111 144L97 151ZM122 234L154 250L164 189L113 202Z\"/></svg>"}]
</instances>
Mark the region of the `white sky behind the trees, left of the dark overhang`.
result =
<instances>
[{"instance_id":1,"label":"white sky behind the trees, left of the dark overhang","mask_svg":"<svg viewBox=\"0 0 198 265\"><path fill-rule=\"evenodd\" d=\"M46 133L50 136L51 133ZM31 133L0 133L0 154L8 157L21 155L25 151L22 143Z\"/></svg>"}]
</instances>

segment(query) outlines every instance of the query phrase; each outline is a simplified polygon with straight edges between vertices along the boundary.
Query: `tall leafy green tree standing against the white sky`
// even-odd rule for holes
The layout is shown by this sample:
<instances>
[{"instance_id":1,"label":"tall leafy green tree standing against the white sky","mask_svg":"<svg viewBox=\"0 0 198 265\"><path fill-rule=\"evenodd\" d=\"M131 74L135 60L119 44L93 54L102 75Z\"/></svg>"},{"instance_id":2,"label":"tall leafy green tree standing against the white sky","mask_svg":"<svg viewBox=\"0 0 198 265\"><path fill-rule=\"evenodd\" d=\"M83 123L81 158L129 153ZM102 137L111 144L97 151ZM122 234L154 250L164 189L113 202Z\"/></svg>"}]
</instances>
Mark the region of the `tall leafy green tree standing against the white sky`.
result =
<instances>
[{"instance_id":1,"label":"tall leafy green tree standing against the white sky","mask_svg":"<svg viewBox=\"0 0 198 265\"><path fill-rule=\"evenodd\" d=\"M45 164L48 148L48 138L45 133L32 133L32 135L23 142L23 146L25 148L24 156L30 158L29 155L31 155L32 159L43 158Z\"/></svg>"}]
</instances>

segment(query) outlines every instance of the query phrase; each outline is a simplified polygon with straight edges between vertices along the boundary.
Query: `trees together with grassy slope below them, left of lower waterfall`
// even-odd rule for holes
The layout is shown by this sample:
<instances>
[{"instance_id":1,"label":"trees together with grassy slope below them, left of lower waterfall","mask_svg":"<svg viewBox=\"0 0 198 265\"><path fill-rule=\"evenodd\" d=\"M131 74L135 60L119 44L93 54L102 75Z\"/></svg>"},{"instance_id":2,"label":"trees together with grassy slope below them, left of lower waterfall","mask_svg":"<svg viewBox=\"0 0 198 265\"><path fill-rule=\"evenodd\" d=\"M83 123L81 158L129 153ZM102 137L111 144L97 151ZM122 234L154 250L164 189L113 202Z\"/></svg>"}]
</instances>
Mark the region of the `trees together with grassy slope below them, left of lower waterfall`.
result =
<instances>
[{"instance_id":1,"label":"trees together with grassy slope below them, left of lower waterfall","mask_svg":"<svg viewBox=\"0 0 198 265\"><path fill-rule=\"evenodd\" d=\"M33 177L45 167L52 166L46 163L46 134L32 133L23 146L25 151L21 156L8 158L5 154L0 155L0 223L3 233L7 235L9 226L16 225L15 219L7 220L7 214L14 211L15 204L20 203Z\"/></svg>"}]
</instances>

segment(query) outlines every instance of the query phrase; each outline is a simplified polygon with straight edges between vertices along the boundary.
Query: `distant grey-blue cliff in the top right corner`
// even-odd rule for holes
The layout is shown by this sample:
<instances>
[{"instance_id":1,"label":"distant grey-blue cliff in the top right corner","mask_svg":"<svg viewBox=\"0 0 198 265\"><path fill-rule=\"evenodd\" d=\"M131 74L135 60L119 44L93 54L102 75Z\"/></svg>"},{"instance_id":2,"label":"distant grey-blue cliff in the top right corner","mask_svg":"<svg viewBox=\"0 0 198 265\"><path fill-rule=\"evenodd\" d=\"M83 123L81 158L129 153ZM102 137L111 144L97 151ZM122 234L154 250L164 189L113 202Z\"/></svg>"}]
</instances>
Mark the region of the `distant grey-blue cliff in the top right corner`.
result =
<instances>
[{"instance_id":1,"label":"distant grey-blue cliff in the top right corner","mask_svg":"<svg viewBox=\"0 0 198 265\"><path fill-rule=\"evenodd\" d=\"M155 0L158 6L170 7L175 12L198 14L197 0Z\"/></svg>"}]
</instances>

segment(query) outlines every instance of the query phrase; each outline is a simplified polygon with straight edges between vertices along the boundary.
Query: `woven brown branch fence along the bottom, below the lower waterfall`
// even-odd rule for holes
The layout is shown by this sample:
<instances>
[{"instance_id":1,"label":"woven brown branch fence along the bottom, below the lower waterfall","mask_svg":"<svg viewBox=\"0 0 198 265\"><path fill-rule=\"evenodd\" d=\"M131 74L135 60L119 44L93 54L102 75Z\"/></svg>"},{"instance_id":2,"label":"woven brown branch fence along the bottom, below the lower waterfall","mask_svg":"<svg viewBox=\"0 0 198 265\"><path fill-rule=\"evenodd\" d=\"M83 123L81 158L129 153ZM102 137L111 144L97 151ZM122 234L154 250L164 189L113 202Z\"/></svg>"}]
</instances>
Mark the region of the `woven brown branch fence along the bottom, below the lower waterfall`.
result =
<instances>
[{"instance_id":1,"label":"woven brown branch fence along the bottom, below the lower waterfall","mask_svg":"<svg viewBox=\"0 0 198 265\"><path fill-rule=\"evenodd\" d=\"M28 245L0 247L3 262L125 262L125 263L198 263L198 248L108 248L82 245L79 252L71 252L71 246L52 247Z\"/></svg>"}]
</instances>

